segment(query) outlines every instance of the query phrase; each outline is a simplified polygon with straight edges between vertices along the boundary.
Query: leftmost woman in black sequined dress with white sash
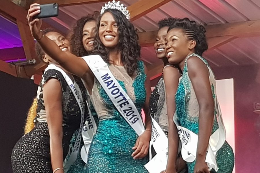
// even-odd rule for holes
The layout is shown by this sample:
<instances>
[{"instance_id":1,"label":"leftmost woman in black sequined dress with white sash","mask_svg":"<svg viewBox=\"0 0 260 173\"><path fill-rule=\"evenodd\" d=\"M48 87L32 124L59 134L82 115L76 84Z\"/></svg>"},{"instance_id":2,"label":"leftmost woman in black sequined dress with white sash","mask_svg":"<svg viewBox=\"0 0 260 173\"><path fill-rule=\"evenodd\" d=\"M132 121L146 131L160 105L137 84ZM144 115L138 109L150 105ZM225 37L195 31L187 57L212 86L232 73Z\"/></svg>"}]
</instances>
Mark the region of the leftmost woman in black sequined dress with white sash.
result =
<instances>
[{"instance_id":1,"label":"leftmost woman in black sequined dress with white sash","mask_svg":"<svg viewBox=\"0 0 260 173\"><path fill-rule=\"evenodd\" d=\"M52 29L42 33L62 52L70 51L69 41L60 33ZM48 67L37 91L35 127L15 144L11 156L12 170L14 173L63 173L63 161L73 133L79 131L77 136L81 138L87 113L83 101L86 99L86 89L78 85L73 75L47 55L38 43L36 52ZM77 152L76 145L73 149Z\"/></svg>"}]
</instances>

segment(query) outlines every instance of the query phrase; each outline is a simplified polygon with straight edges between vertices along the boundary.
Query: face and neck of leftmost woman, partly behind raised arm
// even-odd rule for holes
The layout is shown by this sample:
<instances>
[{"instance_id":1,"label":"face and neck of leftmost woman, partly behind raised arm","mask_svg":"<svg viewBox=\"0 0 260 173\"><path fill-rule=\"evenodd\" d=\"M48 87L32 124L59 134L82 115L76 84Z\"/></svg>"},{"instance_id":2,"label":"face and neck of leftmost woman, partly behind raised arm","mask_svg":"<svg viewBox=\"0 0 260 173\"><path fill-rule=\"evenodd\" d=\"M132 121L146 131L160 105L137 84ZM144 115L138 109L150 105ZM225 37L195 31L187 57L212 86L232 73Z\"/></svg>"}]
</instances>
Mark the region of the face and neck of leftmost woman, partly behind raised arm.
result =
<instances>
[{"instance_id":1,"label":"face and neck of leftmost woman, partly behind raised arm","mask_svg":"<svg viewBox=\"0 0 260 173\"><path fill-rule=\"evenodd\" d=\"M49 39L51 39L53 42L55 42L62 51L65 52L70 52L70 42L60 33L51 31L45 34L46 37L48 37ZM49 55L45 54L43 57L43 61L46 63L55 63L57 64L57 62L52 59L51 57L49 57Z\"/></svg>"}]
</instances>

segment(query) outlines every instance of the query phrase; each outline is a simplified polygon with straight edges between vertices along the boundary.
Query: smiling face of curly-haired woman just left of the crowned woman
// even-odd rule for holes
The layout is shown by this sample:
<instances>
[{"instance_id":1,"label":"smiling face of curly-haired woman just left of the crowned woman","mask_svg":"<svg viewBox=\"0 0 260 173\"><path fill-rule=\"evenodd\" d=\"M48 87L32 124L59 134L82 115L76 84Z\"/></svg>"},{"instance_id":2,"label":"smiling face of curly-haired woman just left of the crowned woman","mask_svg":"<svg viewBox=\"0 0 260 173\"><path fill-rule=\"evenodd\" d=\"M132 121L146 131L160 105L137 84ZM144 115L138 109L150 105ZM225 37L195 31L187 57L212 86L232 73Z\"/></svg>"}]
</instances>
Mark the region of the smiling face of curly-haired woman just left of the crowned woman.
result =
<instances>
[{"instance_id":1,"label":"smiling face of curly-haired woman just left of the crowned woman","mask_svg":"<svg viewBox=\"0 0 260 173\"><path fill-rule=\"evenodd\" d=\"M90 20L85 23L82 29L82 43L87 52L93 50L94 36L96 34L96 22Z\"/></svg>"}]
</instances>

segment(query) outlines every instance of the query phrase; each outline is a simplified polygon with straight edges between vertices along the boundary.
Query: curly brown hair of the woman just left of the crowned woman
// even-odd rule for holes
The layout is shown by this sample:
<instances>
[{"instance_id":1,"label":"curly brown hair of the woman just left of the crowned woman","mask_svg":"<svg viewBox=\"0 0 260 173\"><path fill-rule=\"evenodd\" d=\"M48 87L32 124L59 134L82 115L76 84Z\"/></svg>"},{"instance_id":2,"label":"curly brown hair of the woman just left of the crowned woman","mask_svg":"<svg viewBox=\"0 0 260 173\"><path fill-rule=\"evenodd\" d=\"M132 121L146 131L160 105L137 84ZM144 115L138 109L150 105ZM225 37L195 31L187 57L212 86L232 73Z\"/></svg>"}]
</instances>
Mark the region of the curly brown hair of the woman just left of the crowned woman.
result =
<instances>
[{"instance_id":1,"label":"curly brown hair of the woman just left of the crowned woman","mask_svg":"<svg viewBox=\"0 0 260 173\"><path fill-rule=\"evenodd\" d=\"M77 20L74 27L72 28L70 34L70 50L71 53L75 54L78 57L88 55L88 52L85 50L82 42L82 30L84 25L89 21L96 21L96 18L99 16L99 12L95 11L93 14L88 14Z\"/></svg>"}]
</instances>

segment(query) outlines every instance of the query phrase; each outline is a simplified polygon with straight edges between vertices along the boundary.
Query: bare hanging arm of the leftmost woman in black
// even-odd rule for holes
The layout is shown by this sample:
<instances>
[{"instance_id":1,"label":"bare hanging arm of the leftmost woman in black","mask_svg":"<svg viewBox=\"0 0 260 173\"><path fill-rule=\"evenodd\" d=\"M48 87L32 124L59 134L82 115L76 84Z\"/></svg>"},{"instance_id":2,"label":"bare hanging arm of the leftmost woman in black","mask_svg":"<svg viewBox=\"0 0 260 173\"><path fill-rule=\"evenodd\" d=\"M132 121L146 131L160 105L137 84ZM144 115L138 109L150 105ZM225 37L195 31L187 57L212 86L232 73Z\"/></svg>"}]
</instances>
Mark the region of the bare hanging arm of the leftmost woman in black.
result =
<instances>
[{"instance_id":1,"label":"bare hanging arm of the leftmost woman in black","mask_svg":"<svg viewBox=\"0 0 260 173\"><path fill-rule=\"evenodd\" d=\"M57 79L50 79L43 87L43 100L50 135L52 169L63 168L62 149L62 87ZM57 173L63 173L58 170Z\"/></svg>"}]
</instances>

